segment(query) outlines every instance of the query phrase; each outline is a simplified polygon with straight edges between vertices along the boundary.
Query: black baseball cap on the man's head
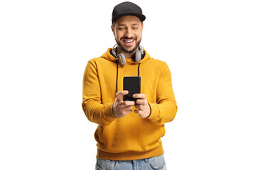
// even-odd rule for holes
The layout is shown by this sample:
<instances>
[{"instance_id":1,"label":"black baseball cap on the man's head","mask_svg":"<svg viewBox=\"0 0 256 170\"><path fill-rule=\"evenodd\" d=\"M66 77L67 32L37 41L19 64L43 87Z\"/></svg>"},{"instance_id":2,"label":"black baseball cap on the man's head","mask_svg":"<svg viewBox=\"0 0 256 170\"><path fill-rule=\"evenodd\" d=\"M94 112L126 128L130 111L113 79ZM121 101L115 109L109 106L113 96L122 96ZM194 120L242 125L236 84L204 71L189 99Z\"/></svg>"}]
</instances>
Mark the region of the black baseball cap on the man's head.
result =
<instances>
[{"instance_id":1,"label":"black baseball cap on the man's head","mask_svg":"<svg viewBox=\"0 0 256 170\"><path fill-rule=\"evenodd\" d=\"M125 1L114 6L112 12L112 23L121 16L137 16L141 21L146 19L146 16L142 14L142 8L129 1Z\"/></svg>"}]
</instances>

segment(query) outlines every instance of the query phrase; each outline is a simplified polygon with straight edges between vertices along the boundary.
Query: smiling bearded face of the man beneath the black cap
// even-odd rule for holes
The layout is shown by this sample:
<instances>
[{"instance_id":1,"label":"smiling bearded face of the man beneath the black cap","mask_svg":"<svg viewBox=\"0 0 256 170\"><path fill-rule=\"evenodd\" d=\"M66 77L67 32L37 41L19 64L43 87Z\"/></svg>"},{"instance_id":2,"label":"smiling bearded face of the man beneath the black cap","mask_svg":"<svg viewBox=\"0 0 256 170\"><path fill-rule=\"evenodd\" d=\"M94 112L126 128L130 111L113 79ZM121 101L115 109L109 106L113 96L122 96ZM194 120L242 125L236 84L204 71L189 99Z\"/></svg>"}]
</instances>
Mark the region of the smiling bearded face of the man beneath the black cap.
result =
<instances>
[{"instance_id":1,"label":"smiling bearded face of the man beneath the black cap","mask_svg":"<svg viewBox=\"0 0 256 170\"><path fill-rule=\"evenodd\" d=\"M122 16L111 26L115 40L122 52L133 53L142 40L142 21L137 16Z\"/></svg>"}]
</instances>

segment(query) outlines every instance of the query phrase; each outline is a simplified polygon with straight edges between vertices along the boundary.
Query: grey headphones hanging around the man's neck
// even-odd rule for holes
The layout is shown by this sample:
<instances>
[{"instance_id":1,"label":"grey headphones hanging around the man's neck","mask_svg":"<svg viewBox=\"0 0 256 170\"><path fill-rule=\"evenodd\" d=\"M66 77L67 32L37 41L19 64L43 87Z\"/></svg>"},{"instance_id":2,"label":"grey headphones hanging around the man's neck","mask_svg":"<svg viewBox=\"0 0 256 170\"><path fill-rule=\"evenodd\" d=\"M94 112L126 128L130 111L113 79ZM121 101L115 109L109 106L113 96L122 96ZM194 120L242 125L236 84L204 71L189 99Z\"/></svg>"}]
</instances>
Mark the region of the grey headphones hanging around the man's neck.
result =
<instances>
[{"instance_id":1,"label":"grey headphones hanging around the man's neck","mask_svg":"<svg viewBox=\"0 0 256 170\"><path fill-rule=\"evenodd\" d=\"M117 46L117 44L114 45L114 47L115 47L115 46ZM124 54L123 54L123 53L120 53L120 54L117 55L117 52L116 52L116 50L115 50L116 48L114 48L114 47L112 48L112 55L113 55L115 58L118 58L119 64L120 64L121 66L125 66L125 65L126 65L126 59L125 59ZM143 56L143 55L144 55L143 47L139 45L139 50L136 50L136 51L135 51L134 61L135 61L136 63L139 63L140 60L142 60L142 56Z\"/></svg>"}]
</instances>

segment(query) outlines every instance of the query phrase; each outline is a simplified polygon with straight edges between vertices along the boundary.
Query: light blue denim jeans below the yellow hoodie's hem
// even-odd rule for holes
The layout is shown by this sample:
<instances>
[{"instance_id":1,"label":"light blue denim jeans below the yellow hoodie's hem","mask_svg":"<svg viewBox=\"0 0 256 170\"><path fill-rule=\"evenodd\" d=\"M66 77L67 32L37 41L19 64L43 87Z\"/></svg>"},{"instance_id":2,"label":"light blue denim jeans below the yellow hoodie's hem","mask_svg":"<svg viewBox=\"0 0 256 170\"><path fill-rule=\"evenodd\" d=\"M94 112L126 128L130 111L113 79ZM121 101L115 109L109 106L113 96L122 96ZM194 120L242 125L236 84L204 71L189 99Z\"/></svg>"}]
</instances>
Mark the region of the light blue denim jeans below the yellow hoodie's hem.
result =
<instances>
[{"instance_id":1,"label":"light blue denim jeans below the yellow hoodie's hem","mask_svg":"<svg viewBox=\"0 0 256 170\"><path fill-rule=\"evenodd\" d=\"M98 159L96 170L166 170L164 155L134 161Z\"/></svg>"}]
</instances>

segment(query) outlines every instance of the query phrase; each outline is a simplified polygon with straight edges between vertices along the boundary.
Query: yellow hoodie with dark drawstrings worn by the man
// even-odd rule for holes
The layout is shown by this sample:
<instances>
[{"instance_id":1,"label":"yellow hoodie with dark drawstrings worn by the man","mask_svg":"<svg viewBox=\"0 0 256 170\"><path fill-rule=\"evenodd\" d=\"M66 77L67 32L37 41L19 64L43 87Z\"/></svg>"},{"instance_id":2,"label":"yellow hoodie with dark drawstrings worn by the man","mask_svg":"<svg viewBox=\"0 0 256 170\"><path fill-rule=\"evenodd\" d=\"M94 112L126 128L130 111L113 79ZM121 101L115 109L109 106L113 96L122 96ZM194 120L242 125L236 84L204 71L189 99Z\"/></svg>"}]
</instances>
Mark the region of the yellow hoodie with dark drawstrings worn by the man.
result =
<instances>
[{"instance_id":1,"label":"yellow hoodie with dark drawstrings worn by the man","mask_svg":"<svg viewBox=\"0 0 256 170\"><path fill-rule=\"evenodd\" d=\"M126 66L117 67L110 50L87 63L82 81L82 109L88 120L98 124L97 158L136 160L164 154L160 139L165 134L164 123L174 120L177 111L169 67L151 58L146 50L140 65L127 58ZM146 94L151 115L140 118L132 111L124 118L115 118L112 105L116 85L117 91L122 91L123 77L137 76L138 69L141 93Z\"/></svg>"}]
</instances>

